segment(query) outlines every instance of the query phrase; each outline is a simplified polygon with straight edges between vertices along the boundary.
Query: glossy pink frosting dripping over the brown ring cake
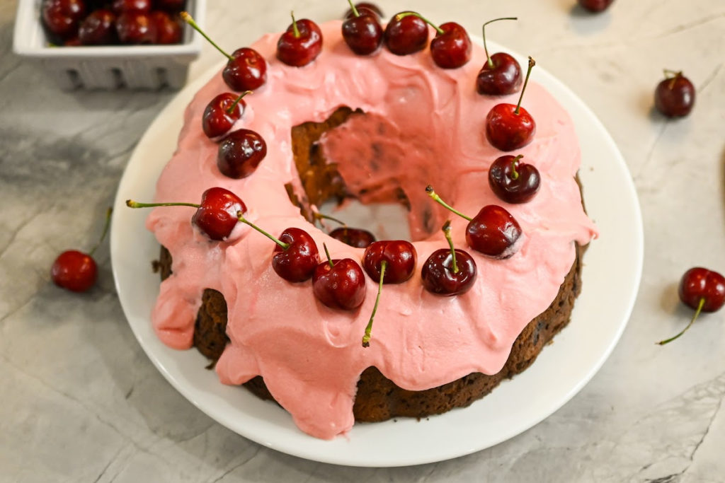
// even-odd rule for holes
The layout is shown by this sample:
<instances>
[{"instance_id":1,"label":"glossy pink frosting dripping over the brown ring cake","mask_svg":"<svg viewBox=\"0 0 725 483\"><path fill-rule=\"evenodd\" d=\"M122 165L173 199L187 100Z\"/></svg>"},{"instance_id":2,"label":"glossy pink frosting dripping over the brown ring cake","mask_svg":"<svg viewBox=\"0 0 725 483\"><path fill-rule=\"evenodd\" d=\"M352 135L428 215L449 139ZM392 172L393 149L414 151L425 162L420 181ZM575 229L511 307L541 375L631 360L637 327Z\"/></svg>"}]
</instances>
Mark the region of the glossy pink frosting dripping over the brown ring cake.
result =
<instances>
[{"instance_id":1,"label":"glossy pink frosting dripping over the brown ring cake","mask_svg":"<svg viewBox=\"0 0 725 483\"><path fill-rule=\"evenodd\" d=\"M147 226L173 256L173 276L162 282L152 314L161 340L173 348L191 347L202 291L219 290L228 304L231 340L216 366L221 382L239 385L262 375L302 431L331 438L352 427L357 380L369 366L408 390L499 371L523 327L557 295L574 260L574 241L588 243L596 230L574 180L580 159L571 119L541 86L529 83L524 99L537 121L536 138L517 154L537 166L542 188L531 202L508 205L488 186L489 165L502 153L486 142L484 122L494 104L516 99L475 92L483 49L474 46L464 67L442 70L427 50L355 56L342 41L340 22L321 28L322 54L306 67L276 59L278 35L254 43L267 59L268 80L246 99L247 111L235 128L265 138L268 154L257 171L231 180L216 167L218 145L201 128L204 107L228 91L215 75L186 110L178 150L159 177L156 200L198 202L207 188L227 188L247 203L247 218L265 230L279 234L299 227L320 249L325 242L334 258L360 260L362 249L305 221L284 185L299 186L292 126L323 121L343 105L362 109L368 115L328 133L323 147L340 163L350 190L363 191L363 201L390 201L394 188L405 191L418 251L413 278L384 287L370 347L361 345L377 290L370 279L359 309L337 311L315 299L310 281L292 284L278 277L270 264L273 243L246 225L230 240L212 242L192 227L193 209L174 207L154 209ZM505 206L525 233L510 259L488 259L466 247L466 222L452 217L457 247L469 251L479 269L465 295L441 297L421 285L420 266L447 246L439 228L452 216L426 197L428 183L470 216L489 203Z\"/></svg>"}]
</instances>

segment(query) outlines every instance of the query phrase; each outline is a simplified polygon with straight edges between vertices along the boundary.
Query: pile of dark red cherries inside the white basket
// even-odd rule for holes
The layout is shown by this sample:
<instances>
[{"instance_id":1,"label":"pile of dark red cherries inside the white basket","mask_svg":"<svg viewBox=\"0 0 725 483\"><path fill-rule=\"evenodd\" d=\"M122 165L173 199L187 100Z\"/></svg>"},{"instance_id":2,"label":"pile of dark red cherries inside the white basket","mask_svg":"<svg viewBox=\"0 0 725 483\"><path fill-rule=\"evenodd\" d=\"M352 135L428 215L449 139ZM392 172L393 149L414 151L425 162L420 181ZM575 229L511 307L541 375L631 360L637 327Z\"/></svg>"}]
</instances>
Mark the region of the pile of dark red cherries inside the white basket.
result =
<instances>
[{"instance_id":1,"label":"pile of dark red cherries inside the white basket","mask_svg":"<svg viewBox=\"0 0 725 483\"><path fill-rule=\"evenodd\" d=\"M186 0L43 0L51 43L63 46L181 43Z\"/></svg>"}]
</instances>

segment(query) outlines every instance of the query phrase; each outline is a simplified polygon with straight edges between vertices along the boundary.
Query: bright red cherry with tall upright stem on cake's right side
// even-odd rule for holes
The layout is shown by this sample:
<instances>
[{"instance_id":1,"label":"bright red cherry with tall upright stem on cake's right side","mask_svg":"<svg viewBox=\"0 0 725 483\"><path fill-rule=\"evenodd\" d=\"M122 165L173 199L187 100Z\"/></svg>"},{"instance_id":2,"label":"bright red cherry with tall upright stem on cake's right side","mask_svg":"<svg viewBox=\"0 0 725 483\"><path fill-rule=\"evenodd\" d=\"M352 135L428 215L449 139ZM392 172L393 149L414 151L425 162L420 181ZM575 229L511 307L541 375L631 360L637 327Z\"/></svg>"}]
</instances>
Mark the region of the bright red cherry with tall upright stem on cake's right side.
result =
<instances>
[{"instance_id":1,"label":"bright red cherry with tall upright stem on cake's right side","mask_svg":"<svg viewBox=\"0 0 725 483\"><path fill-rule=\"evenodd\" d=\"M513 151L534 140L537 123L526 109L514 104L496 104L486 116L486 139L494 148Z\"/></svg>"}]
</instances>

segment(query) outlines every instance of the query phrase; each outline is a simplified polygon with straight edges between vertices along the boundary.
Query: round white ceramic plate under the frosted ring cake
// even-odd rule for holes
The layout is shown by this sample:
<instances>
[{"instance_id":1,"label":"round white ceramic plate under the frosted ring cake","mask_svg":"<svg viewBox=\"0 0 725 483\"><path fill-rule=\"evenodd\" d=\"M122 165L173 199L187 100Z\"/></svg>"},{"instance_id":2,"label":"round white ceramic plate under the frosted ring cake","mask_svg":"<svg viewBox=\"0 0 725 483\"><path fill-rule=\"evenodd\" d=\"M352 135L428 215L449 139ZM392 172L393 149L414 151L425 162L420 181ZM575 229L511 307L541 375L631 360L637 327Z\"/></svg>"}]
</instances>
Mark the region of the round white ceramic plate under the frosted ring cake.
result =
<instances>
[{"instance_id":1,"label":"round white ceramic plate under the frosted ring cake","mask_svg":"<svg viewBox=\"0 0 725 483\"><path fill-rule=\"evenodd\" d=\"M639 203L624 159L600 121L540 67L537 81L566 107L579 133L579 175L587 211L601 236L586 253L583 290L571 324L523 374L468 408L422 421L355 424L347 436L325 441L301 432L275 404L220 384L214 371L204 369L207 361L196 350L177 351L160 343L149 320L159 291L150 261L157 258L159 245L144 228L145 214L126 209L124 202L152 198L159 172L175 149L186 104L219 69L178 93L138 143L118 188L111 234L118 296L131 329L159 371L196 407L242 436L283 453L352 466L405 466L455 458L508 440L563 406L602 366L624 331L639 287Z\"/></svg>"}]
</instances>

